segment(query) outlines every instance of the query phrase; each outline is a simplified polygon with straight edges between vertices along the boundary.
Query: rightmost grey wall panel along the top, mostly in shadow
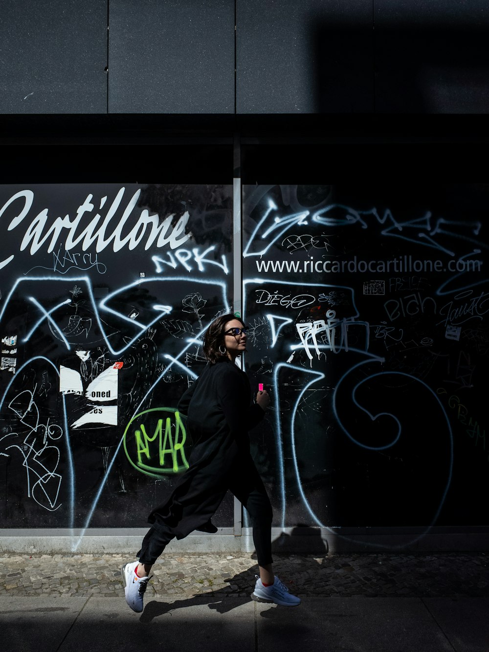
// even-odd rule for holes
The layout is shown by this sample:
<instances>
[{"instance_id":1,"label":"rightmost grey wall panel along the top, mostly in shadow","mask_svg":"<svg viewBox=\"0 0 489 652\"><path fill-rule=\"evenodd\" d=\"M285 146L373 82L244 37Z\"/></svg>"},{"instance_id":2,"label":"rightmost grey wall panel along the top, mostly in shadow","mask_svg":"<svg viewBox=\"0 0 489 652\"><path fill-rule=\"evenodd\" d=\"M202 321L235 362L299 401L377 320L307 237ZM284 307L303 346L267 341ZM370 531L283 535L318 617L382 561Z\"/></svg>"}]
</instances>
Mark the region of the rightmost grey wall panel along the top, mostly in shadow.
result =
<instances>
[{"instance_id":1,"label":"rightmost grey wall panel along the top, mostly in shadow","mask_svg":"<svg viewBox=\"0 0 489 652\"><path fill-rule=\"evenodd\" d=\"M378 113L487 113L486 0L375 3Z\"/></svg>"}]
</instances>

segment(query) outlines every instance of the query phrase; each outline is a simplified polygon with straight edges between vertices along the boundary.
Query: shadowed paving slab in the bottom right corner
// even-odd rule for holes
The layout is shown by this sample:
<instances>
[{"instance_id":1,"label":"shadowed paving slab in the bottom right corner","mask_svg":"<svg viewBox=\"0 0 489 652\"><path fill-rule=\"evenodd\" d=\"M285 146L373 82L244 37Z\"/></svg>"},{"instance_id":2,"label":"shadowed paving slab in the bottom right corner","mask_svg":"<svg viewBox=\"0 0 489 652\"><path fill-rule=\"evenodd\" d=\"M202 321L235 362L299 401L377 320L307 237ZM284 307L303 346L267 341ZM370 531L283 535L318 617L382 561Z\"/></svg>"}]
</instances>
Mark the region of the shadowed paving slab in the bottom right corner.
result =
<instances>
[{"instance_id":1,"label":"shadowed paving slab in the bottom right corner","mask_svg":"<svg viewBox=\"0 0 489 652\"><path fill-rule=\"evenodd\" d=\"M456 652L489 650L489 598L425 598Z\"/></svg>"}]
</instances>

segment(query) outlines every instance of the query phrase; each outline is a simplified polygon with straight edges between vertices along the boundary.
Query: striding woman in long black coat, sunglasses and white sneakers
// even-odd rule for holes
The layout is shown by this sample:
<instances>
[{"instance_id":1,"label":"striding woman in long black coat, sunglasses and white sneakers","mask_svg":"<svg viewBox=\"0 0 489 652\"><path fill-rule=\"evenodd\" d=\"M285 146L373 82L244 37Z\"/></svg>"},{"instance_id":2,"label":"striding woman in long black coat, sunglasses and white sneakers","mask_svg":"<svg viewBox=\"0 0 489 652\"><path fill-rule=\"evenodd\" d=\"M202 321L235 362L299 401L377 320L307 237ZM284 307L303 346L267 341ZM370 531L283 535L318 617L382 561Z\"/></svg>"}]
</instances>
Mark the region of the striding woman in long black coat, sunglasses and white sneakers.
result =
<instances>
[{"instance_id":1,"label":"striding woman in long black coat, sunglasses and white sneakers","mask_svg":"<svg viewBox=\"0 0 489 652\"><path fill-rule=\"evenodd\" d=\"M261 391L252 403L248 378L235 364L246 351L246 331L241 319L226 314L205 333L208 364L178 404L179 412L187 415L194 443L189 467L166 503L149 514L152 525L137 554L139 561L121 569L126 602L135 612L143 610L151 567L171 539L183 539L194 530L217 531L211 518L228 490L246 508L252 523L259 567L252 599L284 606L301 602L273 574L272 507L250 455L248 437L248 430L263 419L270 399Z\"/></svg>"}]
</instances>

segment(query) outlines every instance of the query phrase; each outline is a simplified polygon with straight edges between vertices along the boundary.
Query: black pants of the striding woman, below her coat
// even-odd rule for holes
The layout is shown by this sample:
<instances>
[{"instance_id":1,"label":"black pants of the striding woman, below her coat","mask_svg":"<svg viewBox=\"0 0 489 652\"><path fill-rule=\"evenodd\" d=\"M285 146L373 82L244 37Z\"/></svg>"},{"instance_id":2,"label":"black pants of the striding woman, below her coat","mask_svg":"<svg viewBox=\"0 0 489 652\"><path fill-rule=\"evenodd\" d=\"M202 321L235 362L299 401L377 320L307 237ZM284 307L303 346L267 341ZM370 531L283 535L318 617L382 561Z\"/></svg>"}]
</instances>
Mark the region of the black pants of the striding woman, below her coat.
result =
<instances>
[{"instance_id":1,"label":"black pants of the striding woman, below her coat","mask_svg":"<svg viewBox=\"0 0 489 652\"><path fill-rule=\"evenodd\" d=\"M235 465L226 474L226 477L216 482L216 492L222 494L221 501L227 490L230 490L243 503L243 507L250 515L258 565L267 566L273 563L271 542L272 506L256 467L246 465L246 468L242 469ZM155 522L145 535L141 550L137 554L140 563L153 565L167 544L174 538L175 526L170 526L164 518L159 514L155 514Z\"/></svg>"}]
</instances>

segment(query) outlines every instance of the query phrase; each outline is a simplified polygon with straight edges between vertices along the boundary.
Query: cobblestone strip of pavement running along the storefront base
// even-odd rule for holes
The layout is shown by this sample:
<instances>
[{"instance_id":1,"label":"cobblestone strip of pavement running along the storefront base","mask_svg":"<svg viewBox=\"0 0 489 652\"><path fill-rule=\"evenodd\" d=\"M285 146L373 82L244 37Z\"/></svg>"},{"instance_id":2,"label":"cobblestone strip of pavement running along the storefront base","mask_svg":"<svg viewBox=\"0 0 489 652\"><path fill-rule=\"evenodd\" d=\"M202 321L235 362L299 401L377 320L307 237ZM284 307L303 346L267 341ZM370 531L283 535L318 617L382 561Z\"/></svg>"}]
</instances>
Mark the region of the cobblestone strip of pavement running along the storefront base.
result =
<instances>
[{"instance_id":1,"label":"cobblestone strip of pavement running along the storefront base","mask_svg":"<svg viewBox=\"0 0 489 652\"><path fill-rule=\"evenodd\" d=\"M0 595L123 596L121 555L0 557ZM130 561L130 560L129 560ZM311 596L488 597L489 554L274 555L274 571L291 593ZM147 595L245 597L256 561L247 555L164 555Z\"/></svg>"}]
</instances>

